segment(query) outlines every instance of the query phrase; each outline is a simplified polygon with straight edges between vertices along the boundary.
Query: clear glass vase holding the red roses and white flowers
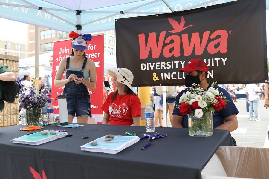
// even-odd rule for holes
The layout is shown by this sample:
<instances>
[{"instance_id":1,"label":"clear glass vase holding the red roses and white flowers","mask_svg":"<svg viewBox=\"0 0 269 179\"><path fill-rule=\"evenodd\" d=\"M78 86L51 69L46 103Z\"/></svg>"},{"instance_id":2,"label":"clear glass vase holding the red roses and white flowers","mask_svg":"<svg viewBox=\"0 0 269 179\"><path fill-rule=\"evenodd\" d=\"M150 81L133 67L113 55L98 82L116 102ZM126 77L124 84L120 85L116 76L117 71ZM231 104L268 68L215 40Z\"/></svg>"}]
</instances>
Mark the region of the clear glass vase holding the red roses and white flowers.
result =
<instances>
[{"instance_id":1,"label":"clear glass vase holding the red roses and white flowers","mask_svg":"<svg viewBox=\"0 0 269 179\"><path fill-rule=\"evenodd\" d=\"M195 137L208 137L213 135L212 112L204 113L201 118L196 118L194 112L188 116L189 135Z\"/></svg>"}]
</instances>

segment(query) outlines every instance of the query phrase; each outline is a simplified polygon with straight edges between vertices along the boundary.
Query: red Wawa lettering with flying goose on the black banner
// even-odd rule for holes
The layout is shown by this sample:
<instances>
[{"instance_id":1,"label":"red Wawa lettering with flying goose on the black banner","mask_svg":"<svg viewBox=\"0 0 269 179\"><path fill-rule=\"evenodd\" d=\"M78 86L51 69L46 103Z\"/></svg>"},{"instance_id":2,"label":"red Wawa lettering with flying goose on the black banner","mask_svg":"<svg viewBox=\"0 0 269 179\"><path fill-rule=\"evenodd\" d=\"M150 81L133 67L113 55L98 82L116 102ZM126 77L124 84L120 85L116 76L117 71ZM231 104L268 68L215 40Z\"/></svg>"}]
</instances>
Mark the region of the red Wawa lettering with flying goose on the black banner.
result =
<instances>
[{"instance_id":1,"label":"red Wawa lettering with flying goose on the black banner","mask_svg":"<svg viewBox=\"0 0 269 179\"><path fill-rule=\"evenodd\" d=\"M184 27L185 19L181 17L180 23L178 21L168 18L169 23L172 25L173 30L168 31L169 33L179 33L194 25ZM164 57L169 58L171 56L179 57L181 45L183 47L184 56L192 54L195 49L195 55L201 55L206 49L208 53L215 54L217 52L227 53L227 41L228 32L226 30L216 30L215 32L205 31L195 32L191 34L191 40L189 42L189 34L176 35L172 34L165 39L166 31L162 31L159 35L159 41L157 44L156 32L149 33L148 41L146 44L145 34L139 34L139 49L140 59L146 59L149 56L151 49L151 58L159 58L161 51ZM200 36L202 35L202 38ZM218 37L217 39L215 39ZM200 41L202 39L202 41ZM214 40L213 40L214 39ZM172 41L172 43L170 43ZM181 42L182 41L182 42ZM164 44L165 43L165 44ZM218 45L217 45L218 44ZM217 47L215 47L217 45ZM163 47L164 46L164 47ZM195 48L194 48L195 47ZM163 50L162 50L163 49Z\"/></svg>"}]
</instances>

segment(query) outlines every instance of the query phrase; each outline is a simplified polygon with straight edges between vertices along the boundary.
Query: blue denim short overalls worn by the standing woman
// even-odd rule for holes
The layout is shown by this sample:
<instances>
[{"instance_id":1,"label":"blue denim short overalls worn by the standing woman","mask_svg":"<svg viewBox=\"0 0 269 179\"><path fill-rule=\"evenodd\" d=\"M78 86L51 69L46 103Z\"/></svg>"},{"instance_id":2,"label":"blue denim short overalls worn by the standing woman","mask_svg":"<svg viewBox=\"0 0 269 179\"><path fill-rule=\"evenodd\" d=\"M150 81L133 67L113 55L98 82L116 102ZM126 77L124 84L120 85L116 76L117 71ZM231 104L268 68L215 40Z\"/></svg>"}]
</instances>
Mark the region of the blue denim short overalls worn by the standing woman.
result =
<instances>
[{"instance_id":1,"label":"blue denim short overalls worn by the standing woman","mask_svg":"<svg viewBox=\"0 0 269 179\"><path fill-rule=\"evenodd\" d=\"M84 78L83 71L85 69L87 59L88 58L84 59L82 70L76 71L68 70L70 63L70 57L68 57L66 61L65 79L68 79L71 74L77 75L78 78ZM91 117L90 94L87 87L83 83L76 84L75 81L72 80L65 84L65 89L63 93L67 94L66 101L68 115L76 117L88 115Z\"/></svg>"}]
</instances>

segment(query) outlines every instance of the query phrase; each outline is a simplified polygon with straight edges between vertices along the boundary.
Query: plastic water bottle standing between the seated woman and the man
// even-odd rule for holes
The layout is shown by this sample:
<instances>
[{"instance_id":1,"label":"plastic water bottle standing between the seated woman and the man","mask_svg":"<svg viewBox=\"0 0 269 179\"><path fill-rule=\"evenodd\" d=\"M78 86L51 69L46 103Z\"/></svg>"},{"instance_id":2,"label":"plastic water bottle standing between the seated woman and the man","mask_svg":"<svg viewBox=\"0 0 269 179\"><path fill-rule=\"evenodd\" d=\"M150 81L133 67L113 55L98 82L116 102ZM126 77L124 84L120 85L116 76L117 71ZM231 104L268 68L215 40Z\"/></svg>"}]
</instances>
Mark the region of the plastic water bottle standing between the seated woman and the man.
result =
<instances>
[{"instance_id":1,"label":"plastic water bottle standing between the seated woman and the man","mask_svg":"<svg viewBox=\"0 0 269 179\"><path fill-rule=\"evenodd\" d=\"M155 131L154 111L150 103L147 103L147 107L145 110L145 118L146 118L146 132L154 132Z\"/></svg>"}]
</instances>

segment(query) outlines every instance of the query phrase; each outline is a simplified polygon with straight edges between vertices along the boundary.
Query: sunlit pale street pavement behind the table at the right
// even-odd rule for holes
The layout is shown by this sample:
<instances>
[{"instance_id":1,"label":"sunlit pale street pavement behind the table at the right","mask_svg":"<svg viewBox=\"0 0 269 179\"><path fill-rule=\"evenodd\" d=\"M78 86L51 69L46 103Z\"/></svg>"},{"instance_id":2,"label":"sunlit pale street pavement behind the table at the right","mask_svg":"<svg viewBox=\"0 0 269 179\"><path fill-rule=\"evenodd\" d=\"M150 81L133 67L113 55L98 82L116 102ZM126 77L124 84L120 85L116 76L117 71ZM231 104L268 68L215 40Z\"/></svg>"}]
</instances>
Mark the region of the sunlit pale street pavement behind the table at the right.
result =
<instances>
[{"instance_id":1,"label":"sunlit pale street pavement behind the table at the right","mask_svg":"<svg viewBox=\"0 0 269 179\"><path fill-rule=\"evenodd\" d=\"M241 147L269 148L269 109L264 108L264 101L259 100L258 115L262 121L250 121L249 112L246 110L246 99L237 99L235 105L239 111L237 114L238 128L231 132L236 140L236 145ZM168 114L167 126L171 127Z\"/></svg>"}]
</instances>

